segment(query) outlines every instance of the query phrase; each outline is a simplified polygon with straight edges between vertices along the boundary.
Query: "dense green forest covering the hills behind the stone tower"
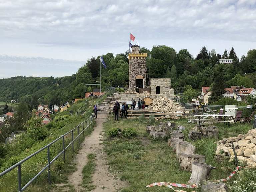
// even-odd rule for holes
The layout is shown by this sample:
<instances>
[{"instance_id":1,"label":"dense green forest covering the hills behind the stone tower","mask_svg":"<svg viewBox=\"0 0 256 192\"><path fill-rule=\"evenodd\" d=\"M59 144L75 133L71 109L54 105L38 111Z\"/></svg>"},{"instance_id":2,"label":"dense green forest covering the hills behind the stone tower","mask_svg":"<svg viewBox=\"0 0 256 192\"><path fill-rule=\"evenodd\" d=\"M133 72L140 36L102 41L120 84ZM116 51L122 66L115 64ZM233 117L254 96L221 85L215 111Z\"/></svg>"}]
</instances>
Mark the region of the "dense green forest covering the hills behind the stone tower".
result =
<instances>
[{"instance_id":1,"label":"dense green forest covering the hills behind the stone tower","mask_svg":"<svg viewBox=\"0 0 256 192\"><path fill-rule=\"evenodd\" d=\"M171 78L171 84L185 87L189 98L199 95L202 86L210 86L213 94L210 102L221 99L224 88L230 86L254 87L256 85L256 50L249 50L246 56L237 57L234 48L223 53L208 51L202 47L193 58L187 49L178 53L175 49L158 45L151 50L142 47L141 53L151 54L147 58L148 80L150 78ZM128 54L112 53L103 55L107 68L102 67L102 88L128 86ZM29 109L37 108L39 103L61 105L75 97L92 91L87 83L99 83L100 60L92 57L76 74L66 77L11 77L0 79L0 101L16 100L26 102ZM218 59L233 59L232 64L219 64ZM51 69L49 69L51 70ZM147 82L150 84L150 82ZM187 90L186 90L187 89Z\"/></svg>"}]
</instances>

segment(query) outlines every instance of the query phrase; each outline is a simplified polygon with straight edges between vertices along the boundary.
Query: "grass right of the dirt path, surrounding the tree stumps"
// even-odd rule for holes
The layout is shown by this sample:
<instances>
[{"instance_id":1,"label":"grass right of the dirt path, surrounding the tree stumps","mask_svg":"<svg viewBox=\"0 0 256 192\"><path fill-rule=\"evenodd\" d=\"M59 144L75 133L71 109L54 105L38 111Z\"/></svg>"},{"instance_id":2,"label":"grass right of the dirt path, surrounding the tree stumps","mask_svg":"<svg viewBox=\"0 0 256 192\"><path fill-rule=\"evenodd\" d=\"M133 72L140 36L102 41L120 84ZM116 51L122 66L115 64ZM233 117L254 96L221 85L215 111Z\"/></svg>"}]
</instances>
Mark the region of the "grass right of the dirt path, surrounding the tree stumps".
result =
<instances>
[{"instance_id":1,"label":"grass right of the dirt path, surrounding the tree stumps","mask_svg":"<svg viewBox=\"0 0 256 192\"><path fill-rule=\"evenodd\" d=\"M209 179L224 179L230 171L224 171L221 167L228 166L231 170L235 169L232 162L222 161L218 162L215 159L215 152L217 144L213 139L201 139L198 141L191 141L187 138L189 129L194 127L194 124L188 124L187 120L177 120L177 125L184 125L186 127L184 134L185 140L191 142L196 147L196 154L204 155L206 163L217 167L217 170L212 170ZM129 183L128 187L122 189L122 192L158 192L170 191L167 187L152 187L146 188L154 182L172 182L186 184L190 178L190 172L180 170L179 162L175 157L175 153L168 147L166 141L152 140L146 134L147 121L139 122L136 120L121 120L115 122L113 118L104 123L106 132L108 129L117 127L123 130L126 127L136 128L138 135L131 138L106 138L105 151L108 154L108 163L112 170L120 176L121 180ZM251 129L250 125L231 125L229 128L224 124L217 124L219 129L219 139L222 137L237 136L239 133L247 133ZM251 171L248 174L254 175ZM231 181L228 182L230 190L233 192ZM242 182L245 182L245 177L240 177ZM248 180L248 179L247 179ZM256 180L254 178L253 180ZM191 189L180 188L184 191L193 191ZM249 192L250 190L245 190Z\"/></svg>"}]
</instances>

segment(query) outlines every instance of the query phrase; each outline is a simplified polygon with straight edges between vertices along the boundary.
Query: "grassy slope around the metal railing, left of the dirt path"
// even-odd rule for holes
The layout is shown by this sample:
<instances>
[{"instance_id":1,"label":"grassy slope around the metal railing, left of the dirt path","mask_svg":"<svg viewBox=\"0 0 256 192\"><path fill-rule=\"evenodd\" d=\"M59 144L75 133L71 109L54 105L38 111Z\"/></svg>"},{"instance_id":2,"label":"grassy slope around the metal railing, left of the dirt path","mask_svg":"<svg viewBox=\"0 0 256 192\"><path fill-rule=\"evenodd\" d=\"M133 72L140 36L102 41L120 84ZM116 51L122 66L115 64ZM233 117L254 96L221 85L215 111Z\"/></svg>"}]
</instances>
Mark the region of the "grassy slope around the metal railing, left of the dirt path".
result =
<instances>
[{"instance_id":1,"label":"grassy slope around the metal railing, left of the dirt path","mask_svg":"<svg viewBox=\"0 0 256 192\"><path fill-rule=\"evenodd\" d=\"M27 157L28 155L34 153L38 149L44 147L48 143L52 142L59 136L63 135L64 133L68 132L69 130L76 127L80 122L88 119L87 115L74 115L70 116L68 119L64 120L64 126L61 127L58 130L53 130L51 134L45 138L43 141L38 141L34 145L32 145L30 148L25 149L24 151L21 151L20 154L8 157L8 159L5 160L5 163L11 163L15 164L16 162L22 160L23 158ZM95 122L94 122L95 123ZM89 135L90 132L93 130L92 127L88 129L88 131L84 132L84 136ZM86 127L86 123L85 123ZM80 132L82 128L80 127ZM74 131L74 138L76 138L78 135L77 130ZM83 137L83 134L80 135L80 143L85 139ZM65 137L65 146L67 146L70 142L71 134L68 134ZM74 150L75 152L72 152L72 147L70 146L66 150L66 157L65 162L62 159L62 155L57 158L57 160L51 164L51 180L52 183L66 183L68 179L68 175L75 170L75 166L73 163L73 157L80 149L80 146L78 144L78 140L74 142ZM51 160L62 150L62 140L59 140L58 142L54 143L50 147L50 154L51 154ZM4 164L3 164L4 165ZM3 166L2 165L2 166ZM35 155L31 159L24 162L21 166L22 169L22 186L24 186L30 179L32 179L44 166L47 165L47 150L43 150L39 154ZM0 168L0 172L3 171L1 169L5 169L3 167ZM9 173L5 174L0 178L0 192L14 192L18 189L18 182L17 182L17 168L10 171ZM47 171L44 171L27 189L28 192L48 192L51 188L51 185L47 182Z\"/></svg>"}]
</instances>

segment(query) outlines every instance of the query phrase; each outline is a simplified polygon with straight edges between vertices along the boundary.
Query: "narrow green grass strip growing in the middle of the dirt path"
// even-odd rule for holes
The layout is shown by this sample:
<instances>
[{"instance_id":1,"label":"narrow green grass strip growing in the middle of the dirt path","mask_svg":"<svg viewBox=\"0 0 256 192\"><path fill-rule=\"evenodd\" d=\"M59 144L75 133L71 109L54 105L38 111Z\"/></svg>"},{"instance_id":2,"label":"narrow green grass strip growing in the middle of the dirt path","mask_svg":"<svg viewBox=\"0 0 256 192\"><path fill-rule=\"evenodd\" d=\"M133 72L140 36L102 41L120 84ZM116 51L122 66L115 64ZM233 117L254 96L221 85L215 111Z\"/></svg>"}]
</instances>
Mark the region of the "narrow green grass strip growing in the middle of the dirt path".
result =
<instances>
[{"instance_id":1,"label":"narrow green grass strip growing in the middle of the dirt path","mask_svg":"<svg viewBox=\"0 0 256 192\"><path fill-rule=\"evenodd\" d=\"M94 159L96 158L96 155L93 153L90 153L87 155L88 162L83 167L83 181L82 181L82 187L85 189L85 191L91 191L96 188L95 185L92 185L92 174L95 171L96 163L94 162Z\"/></svg>"}]
</instances>

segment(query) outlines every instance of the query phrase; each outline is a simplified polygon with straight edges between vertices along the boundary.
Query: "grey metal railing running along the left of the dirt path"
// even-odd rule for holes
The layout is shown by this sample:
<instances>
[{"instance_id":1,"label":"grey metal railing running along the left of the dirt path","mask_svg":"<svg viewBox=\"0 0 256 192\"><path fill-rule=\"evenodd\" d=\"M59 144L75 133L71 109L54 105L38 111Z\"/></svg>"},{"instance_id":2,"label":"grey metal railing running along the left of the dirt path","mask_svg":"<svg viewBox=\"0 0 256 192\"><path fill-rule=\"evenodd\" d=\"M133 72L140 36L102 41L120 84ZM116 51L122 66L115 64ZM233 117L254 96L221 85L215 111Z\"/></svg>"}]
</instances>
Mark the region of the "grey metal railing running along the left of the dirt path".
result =
<instances>
[{"instance_id":1,"label":"grey metal railing running along the left of the dirt path","mask_svg":"<svg viewBox=\"0 0 256 192\"><path fill-rule=\"evenodd\" d=\"M3 175L5 175L6 173L8 173L9 171L15 169L16 167L18 167L18 192L22 192L24 191L39 175L41 175L47 168L48 168L48 182L51 183L51 170L50 170L50 165L61 155L63 154L63 161L65 161L65 152L68 149L68 147L70 147L72 145L72 151L74 152L74 141L78 139L78 143L80 145L80 135L83 134L84 136L84 131L87 130L88 128L90 128L90 125L92 124L92 120L93 120L93 114L86 119L85 121L83 121L82 123L80 123L78 126L76 126L74 129L70 130L69 132L65 133L64 135L60 136L59 138L55 139L54 141L52 141L51 143L49 143L48 145L44 146L43 148L39 149L38 151L34 152L33 154L27 156L26 158L24 158L23 160L19 161L18 163L16 163L15 165L9 167L8 169L6 169L5 171L0 173L0 177L2 177ZM89 121L89 122L88 122ZM85 127L86 124L86 127ZM80 126L82 127L82 130L80 132ZM74 131L77 129L78 132L78 136L76 138L74 138ZM65 136L68 135L69 133L71 133L72 135L72 141L65 146ZM63 146L63 150L57 155L55 156L52 160L50 159L50 146L52 144L54 144L55 142L59 141L60 139L62 139L62 146ZM39 172L37 173L27 184L25 184L23 187L21 185L22 183L22 174L21 174L21 165L22 163L24 163L25 161L27 161L28 159L30 159L31 157L37 155L38 153L40 153L41 151L43 151L44 149L47 148L47 160L48 160L48 164Z\"/></svg>"}]
</instances>

